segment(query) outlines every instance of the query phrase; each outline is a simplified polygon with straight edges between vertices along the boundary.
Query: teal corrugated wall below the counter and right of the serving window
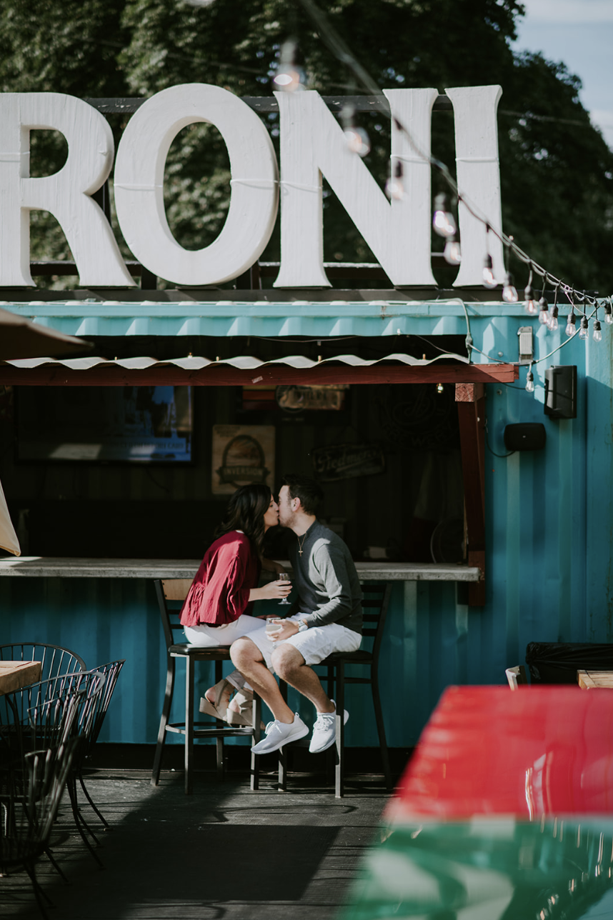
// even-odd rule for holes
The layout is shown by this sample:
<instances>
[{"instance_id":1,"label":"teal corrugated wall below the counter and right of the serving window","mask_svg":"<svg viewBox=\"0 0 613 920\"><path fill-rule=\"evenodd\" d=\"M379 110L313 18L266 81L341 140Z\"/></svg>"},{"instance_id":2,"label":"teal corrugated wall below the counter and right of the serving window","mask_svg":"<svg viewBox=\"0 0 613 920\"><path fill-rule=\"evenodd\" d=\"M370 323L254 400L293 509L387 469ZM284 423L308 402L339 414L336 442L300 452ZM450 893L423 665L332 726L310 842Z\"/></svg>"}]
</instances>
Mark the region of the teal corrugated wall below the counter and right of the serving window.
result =
<instances>
[{"instance_id":1,"label":"teal corrugated wall below the counter and right of the serving window","mask_svg":"<svg viewBox=\"0 0 613 920\"><path fill-rule=\"evenodd\" d=\"M520 307L501 307L493 318L485 312L471 317L471 333L494 360L516 362L519 326L535 327L536 358L566 340L563 324L558 334L546 333ZM428 322L432 334L437 317ZM425 323L422 317L420 334L427 334ZM453 324L445 322L445 331L466 330L463 315ZM543 372L551 363L577 365L575 420L543 413ZM613 641L612 367L611 328L603 323L600 343L573 339L534 366L534 395L526 393L525 368L514 385L488 385L487 604L458 603L453 583L394 585L381 685L392 746L416 742L446 685L503 684L505 667L524 661L531 640ZM496 455L506 453L504 426L519 421L543 422L545 449ZM150 584L2 578L0 609L2 641L63 643L90 666L126 658L101 740L155 742L165 661ZM203 673L202 688L209 681ZM376 745L367 691L349 692L348 743ZM301 711L312 719L308 707Z\"/></svg>"}]
</instances>

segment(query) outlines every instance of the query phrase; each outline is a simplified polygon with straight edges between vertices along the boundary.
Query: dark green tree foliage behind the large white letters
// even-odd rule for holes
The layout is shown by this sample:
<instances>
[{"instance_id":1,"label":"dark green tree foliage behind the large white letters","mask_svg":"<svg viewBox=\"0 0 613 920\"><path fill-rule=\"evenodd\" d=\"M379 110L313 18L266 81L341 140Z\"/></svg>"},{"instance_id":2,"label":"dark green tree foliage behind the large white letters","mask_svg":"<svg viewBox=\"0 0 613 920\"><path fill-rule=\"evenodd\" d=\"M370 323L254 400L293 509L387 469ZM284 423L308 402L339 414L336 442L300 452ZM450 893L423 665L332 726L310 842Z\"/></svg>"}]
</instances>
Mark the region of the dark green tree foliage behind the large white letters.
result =
<instances>
[{"instance_id":1,"label":"dark green tree foliage behind the large white letters","mask_svg":"<svg viewBox=\"0 0 613 920\"><path fill-rule=\"evenodd\" d=\"M322 95L355 95L364 87L330 48L295 0L5 0L0 10L0 87L54 90L83 98L149 97L167 86L203 82L238 96L270 96L280 47L295 36L308 86ZM613 291L613 154L591 126L579 80L561 63L511 49L516 0L336 0L325 9L331 28L381 87L500 84L499 143L503 225L538 263L564 281ZM278 121L266 122L276 143ZM366 164L387 178L389 125L362 120L372 141ZM121 117L113 122L119 135ZM49 132L36 132L40 134ZM453 167L453 116L435 112L433 152ZM40 139L40 173L61 164L65 148ZM168 221L186 247L207 245L226 219L229 166L225 144L210 126L180 132L168 155ZM434 192L440 180L434 177ZM333 195L325 198L325 258L373 259ZM33 232L33 255L68 258L59 229ZM273 236L264 259L278 259ZM518 285L526 271L513 264ZM443 271L448 284L453 273Z\"/></svg>"}]
</instances>

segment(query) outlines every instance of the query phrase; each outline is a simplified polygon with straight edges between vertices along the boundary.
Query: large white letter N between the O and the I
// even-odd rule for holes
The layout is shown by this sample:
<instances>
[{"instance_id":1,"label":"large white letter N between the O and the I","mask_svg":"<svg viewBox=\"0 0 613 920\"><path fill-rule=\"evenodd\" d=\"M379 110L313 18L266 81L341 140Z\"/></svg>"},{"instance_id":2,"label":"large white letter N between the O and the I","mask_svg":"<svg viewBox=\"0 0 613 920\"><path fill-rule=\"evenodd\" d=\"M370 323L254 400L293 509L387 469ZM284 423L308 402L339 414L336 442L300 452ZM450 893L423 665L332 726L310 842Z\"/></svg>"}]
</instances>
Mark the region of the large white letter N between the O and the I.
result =
<instances>
[{"instance_id":1,"label":"large white letter N between the O and the I","mask_svg":"<svg viewBox=\"0 0 613 920\"><path fill-rule=\"evenodd\" d=\"M436 89L384 89L392 114L411 126L430 154ZM433 285L430 258L430 163L392 121L392 159L404 163L405 196L387 201L359 156L350 153L341 125L314 91L275 93L281 115L281 270L275 287L322 287L321 175L330 183L392 284Z\"/></svg>"}]
</instances>

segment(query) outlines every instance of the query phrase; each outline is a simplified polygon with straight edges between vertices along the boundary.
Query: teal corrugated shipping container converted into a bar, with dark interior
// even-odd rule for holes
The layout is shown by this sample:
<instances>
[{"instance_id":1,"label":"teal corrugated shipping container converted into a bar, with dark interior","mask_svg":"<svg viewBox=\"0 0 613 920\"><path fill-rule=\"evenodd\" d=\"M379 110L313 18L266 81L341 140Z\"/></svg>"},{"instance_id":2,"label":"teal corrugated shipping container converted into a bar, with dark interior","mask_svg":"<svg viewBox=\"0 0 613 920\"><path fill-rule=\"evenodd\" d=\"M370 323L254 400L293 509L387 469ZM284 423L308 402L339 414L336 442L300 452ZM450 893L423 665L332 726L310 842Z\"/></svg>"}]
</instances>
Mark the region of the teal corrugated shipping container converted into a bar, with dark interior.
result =
<instances>
[{"instance_id":1,"label":"teal corrugated shipping container converted into a bar, with dark interior","mask_svg":"<svg viewBox=\"0 0 613 920\"><path fill-rule=\"evenodd\" d=\"M267 299L268 293L274 296ZM432 434L436 415L432 410L430 421L420 429L425 438L423 450L414 432L406 435L408 426L399 417L412 407L411 424L415 420L417 408L410 388L416 366L402 356L411 355L415 361L419 352L419 368L440 368L442 376L445 368L447 372L450 367L459 368L455 379L461 383L462 374L472 373L466 357L441 361L437 355L466 356L464 343L469 334L471 361L488 368L487 373L497 364L519 365L518 376L510 382L491 377L492 382L484 385L485 420L480 420L480 424L484 421L484 603L469 603L468 582L453 577L394 581L381 668L388 744L395 748L415 744L449 684L505 683L505 668L525 661L530 641L613 641L610 326L603 323L598 342L591 334L585 340L578 335L568 339L564 323L550 332L538 318L526 315L522 303L482 303L459 297L417 302L402 293L382 290L355 292L353 297L335 291L336 300L322 294L301 301L263 291L258 292L259 301L253 295L241 300L239 292L224 292L228 296L222 302L214 301L212 292L200 300L191 292L189 301L179 301L181 293L175 294L143 292L150 297L148 301L133 297L129 303L98 295L87 303L57 299L32 303L24 294L21 300L4 304L42 325L92 336L97 346L106 339L112 341L112 347L121 348L123 341L134 349L133 337L137 337L139 353L153 356L147 371L151 380L166 382L170 368L184 374L184 383L197 383L195 372L190 377L189 362L187 371L178 368L179 359L186 357L196 340L201 351L195 353L206 354L222 373L217 385L194 386L194 456L185 468L37 463L18 456L23 391L31 386L48 387L60 378L70 383L71 374L77 372L84 375L78 378L79 388L85 388L87 374L97 385L112 381L125 387L134 381L142 385L145 378L133 375L135 365L122 362L122 351L117 352L116 361L112 355L89 370L69 360L3 362L0 479L23 540L24 557L159 558L150 546L156 539L164 547L160 555L166 558L200 558L200 547L205 547L209 534L208 521L215 515L218 519L224 504L223 496L213 495L210 485L212 429L219 424L262 424L264 420L275 430L277 482L288 469L312 469L314 447L364 440L383 443L385 468L328 483L327 516L341 528L358 558L384 550L379 557L383 569L390 558L411 561L411 534L416 534L419 522L429 520L434 526L434 516L439 512L445 516L452 506L451 516L461 520L463 501L468 497L466 491L462 494L461 485L457 487L462 481L457 459L461 452L454 440L457 432L449 434L448 441L445 434L438 446L432 437L428 440L423 431ZM601 312L604 319L604 309ZM526 341L531 342L532 354L526 357L523 351L521 363L520 328L532 333L523 333L522 348ZM338 380L344 368L347 379L352 380L346 393L349 408L341 409L334 416L338 421L328 426L319 422L323 413L317 418L312 413L301 422L296 420L299 413L278 412L272 417L260 410L263 414L254 421L256 410L249 415L245 386L237 385L231 376L229 384L223 378L223 368L234 373L233 359L253 354L264 369L272 366L270 362L276 362L277 369L287 368L292 356L307 356L311 362L307 369L315 382L318 368L341 368ZM363 355L360 360L364 363L358 366L340 358L348 355ZM530 362L534 392L526 391ZM144 365L139 366L142 370ZM576 368L576 418L555 418L544 411L546 372L560 366ZM390 383L390 369L402 371L400 383ZM363 396L357 393L360 385L354 383L355 374L362 372L368 381ZM445 382L438 388L437 371L432 373L433 382L419 386L427 388L423 392L429 399L437 395L453 405L455 385ZM252 385L258 385L259 378L261 384L264 371L256 367L251 374ZM397 393L391 389L395 385L405 389ZM12 393L7 387L13 388ZM396 415L392 408L398 409ZM542 425L544 446L515 451L505 446L505 428L517 424ZM408 440L402 441L399 431ZM425 454L428 463L422 462ZM464 482L466 476L465 469ZM426 492L431 505L433 497L438 497L439 511L420 510L420 496ZM132 527L136 529L131 531ZM126 542L128 532L140 533L140 540ZM444 555L436 557L432 536L431 526L428 547L440 561ZM462 536L456 546L462 545ZM58 546L56 552L53 546ZM144 552L138 551L140 546L145 547ZM414 561L416 565L422 562L426 569L432 558L421 556ZM452 561L458 571L466 566L456 557ZM88 667L125 658L100 741L153 744L166 651L152 580L34 577L27 574L25 565L19 568L20 562L13 557L0 560L2 642L62 644L85 658ZM211 677L202 673L202 688ZM178 696L177 720L180 692ZM348 704L353 718L347 726L347 744L376 746L369 695L350 687ZM311 719L308 712L307 717Z\"/></svg>"}]
</instances>

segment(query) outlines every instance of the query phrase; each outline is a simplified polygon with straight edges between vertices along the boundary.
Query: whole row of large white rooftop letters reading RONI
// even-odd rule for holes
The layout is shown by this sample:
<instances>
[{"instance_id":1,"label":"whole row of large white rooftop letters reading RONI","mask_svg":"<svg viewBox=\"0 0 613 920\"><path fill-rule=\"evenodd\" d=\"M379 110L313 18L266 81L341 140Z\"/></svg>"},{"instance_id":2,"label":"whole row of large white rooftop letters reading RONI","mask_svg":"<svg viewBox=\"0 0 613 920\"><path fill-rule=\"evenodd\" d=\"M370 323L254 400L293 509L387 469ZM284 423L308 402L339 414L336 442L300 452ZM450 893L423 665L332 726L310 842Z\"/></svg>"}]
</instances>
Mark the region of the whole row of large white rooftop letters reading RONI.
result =
<instances>
[{"instance_id":1,"label":"whole row of large white rooftop letters reading RONI","mask_svg":"<svg viewBox=\"0 0 613 920\"><path fill-rule=\"evenodd\" d=\"M32 286L29 212L49 211L64 230L83 286L133 286L110 224L91 195L109 178L121 233L136 259L186 285L237 278L259 259L281 199L281 268L275 287L328 287L323 266L324 176L376 259L397 286L435 285L431 267L431 117L438 90L384 89L392 114L391 154L404 166L405 195L387 201L341 125L314 91L275 93L281 171L260 118L219 86L186 84L157 93L136 111L115 156L110 126L82 99L60 93L0 94L0 286ZM493 226L502 227L496 111L500 86L446 89L455 114L457 184ZM412 141L399 131L406 125ZM176 135L194 122L221 133L231 170L226 223L210 246L188 250L172 235L164 207L164 167ZM64 134L68 157L52 176L29 176L29 132ZM459 205L462 262L455 284L480 284L485 226ZM494 274L502 243L490 239Z\"/></svg>"}]
</instances>

